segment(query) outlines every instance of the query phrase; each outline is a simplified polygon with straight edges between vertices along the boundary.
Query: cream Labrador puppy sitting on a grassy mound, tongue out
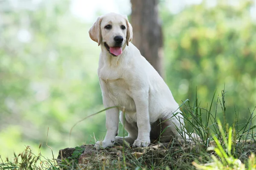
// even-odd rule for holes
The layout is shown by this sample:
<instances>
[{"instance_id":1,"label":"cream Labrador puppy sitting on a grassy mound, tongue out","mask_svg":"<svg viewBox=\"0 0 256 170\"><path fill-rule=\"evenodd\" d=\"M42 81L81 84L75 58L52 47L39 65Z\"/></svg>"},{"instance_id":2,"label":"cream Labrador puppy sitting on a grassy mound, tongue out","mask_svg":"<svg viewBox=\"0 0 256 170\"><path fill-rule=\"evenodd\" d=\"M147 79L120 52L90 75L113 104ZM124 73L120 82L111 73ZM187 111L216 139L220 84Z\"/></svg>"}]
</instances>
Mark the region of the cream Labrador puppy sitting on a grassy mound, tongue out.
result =
<instances>
[{"instance_id":1,"label":"cream Labrador puppy sitting on a grassy mound, tongue out","mask_svg":"<svg viewBox=\"0 0 256 170\"><path fill-rule=\"evenodd\" d=\"M168 86L131 43L133 32L127 16L100 16L89 35L101 48L98 76L103 105L118 106L106 111L107 133L94 147L122 142L123 137L117 136L119 119L128 132L124 139L133 147L147 147L152 140L170 142L181 136L189 139L179 105Z\"/></svg>"}]
</instances>

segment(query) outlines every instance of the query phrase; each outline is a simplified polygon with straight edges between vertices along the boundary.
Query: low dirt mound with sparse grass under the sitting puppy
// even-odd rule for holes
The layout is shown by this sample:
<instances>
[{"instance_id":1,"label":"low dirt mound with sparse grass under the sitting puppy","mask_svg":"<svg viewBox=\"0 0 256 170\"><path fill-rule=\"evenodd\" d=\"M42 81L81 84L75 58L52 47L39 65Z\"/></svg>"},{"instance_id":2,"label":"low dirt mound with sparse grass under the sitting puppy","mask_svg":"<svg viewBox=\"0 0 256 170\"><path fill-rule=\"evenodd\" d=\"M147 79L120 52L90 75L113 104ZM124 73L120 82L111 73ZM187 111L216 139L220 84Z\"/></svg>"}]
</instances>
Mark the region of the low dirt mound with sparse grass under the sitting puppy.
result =
<instances>
[{"instance_id":1,"label":"low dirt mound with sparse grass under the sitting puppy","mask_svg":"<svg viewBox=\"0 0 256 170\"><path fill-rule=\"evenodd\" d=\"M76 148L65 148L59 151L58 163L61 167L73 166L86 169L113 169L129 167L134 169L138 165L164 164L168 166L166 157L173 155L178 158L183 153L195 149L195 144L177 145L174 143L160 143L149 147L114 146L96 150L92 144ZM195 151L195 150L194 150ZM169 162L171 163L171 162ZM69 169L69 168L67 168Z\"/></svg>"}]
</instances>

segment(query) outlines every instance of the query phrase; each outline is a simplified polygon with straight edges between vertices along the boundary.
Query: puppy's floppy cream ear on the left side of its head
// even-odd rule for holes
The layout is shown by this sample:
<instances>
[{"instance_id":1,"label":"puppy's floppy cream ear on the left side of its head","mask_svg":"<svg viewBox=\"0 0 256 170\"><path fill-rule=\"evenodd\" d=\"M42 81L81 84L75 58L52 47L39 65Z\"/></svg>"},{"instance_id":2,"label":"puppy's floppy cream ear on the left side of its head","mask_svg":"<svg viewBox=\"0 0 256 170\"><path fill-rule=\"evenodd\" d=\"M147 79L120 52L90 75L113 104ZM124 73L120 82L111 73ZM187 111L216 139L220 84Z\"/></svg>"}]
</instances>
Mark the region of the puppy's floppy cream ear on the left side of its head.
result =
<instances>
[{"instance_id":1,"label":"puppy's floppy cream ear on the left side of its head","mask_svg":"<svg viewBox=\"0 0 256 170\"><path fill-rule=\"evenodd\" d=\"M95 23L93 24L93 26L89 30L90 38L93 41L98 42L98 45L100 45L100 42L101 42L100 24L102 22L102 19L103 19L103 17L98 17L97 20L95 21Z\"/></svg>"}]
</instances>

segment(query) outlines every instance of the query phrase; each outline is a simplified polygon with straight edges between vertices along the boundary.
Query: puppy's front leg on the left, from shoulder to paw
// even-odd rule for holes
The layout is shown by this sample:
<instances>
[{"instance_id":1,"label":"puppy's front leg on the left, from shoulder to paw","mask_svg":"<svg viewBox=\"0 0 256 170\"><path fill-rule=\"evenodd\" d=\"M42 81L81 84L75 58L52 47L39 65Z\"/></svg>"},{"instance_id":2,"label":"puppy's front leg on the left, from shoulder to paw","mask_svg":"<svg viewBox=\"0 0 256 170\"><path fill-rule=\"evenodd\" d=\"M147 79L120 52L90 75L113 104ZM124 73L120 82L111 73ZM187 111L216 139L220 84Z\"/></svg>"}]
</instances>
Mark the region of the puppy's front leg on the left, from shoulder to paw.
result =
<instances>
[{"instance_id":1,"label":"puppy's front leg on the left, from shoulder to paw","mask_svg":"<svg viewBox=\"0 0 256 170\"><path fill-rule=\"evenodd\" d=\"M100 80L100 86L102 89L102 99L103 105L105 108L115 106L114 102L108 96L108 89L106 88L105 82ZM119 123L119 109L118 108L111 108L106 111L106 128L107 133L105 139L101 142L98 141L94 145L97 149L100 147L112 147L115 142L115 137L118 133L118 123Z\"/></svg>"}]
</instances>

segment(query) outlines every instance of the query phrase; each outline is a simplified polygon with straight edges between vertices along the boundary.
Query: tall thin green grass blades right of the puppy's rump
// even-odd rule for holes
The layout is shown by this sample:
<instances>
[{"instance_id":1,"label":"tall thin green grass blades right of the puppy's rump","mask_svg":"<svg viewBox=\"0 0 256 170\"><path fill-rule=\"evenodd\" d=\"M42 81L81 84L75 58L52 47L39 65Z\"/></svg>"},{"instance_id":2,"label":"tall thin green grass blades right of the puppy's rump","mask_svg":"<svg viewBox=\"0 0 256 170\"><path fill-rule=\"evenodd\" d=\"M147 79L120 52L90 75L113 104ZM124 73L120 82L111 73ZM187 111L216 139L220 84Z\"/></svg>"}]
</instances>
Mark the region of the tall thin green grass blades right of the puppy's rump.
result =
<instances>
[{"instance_id":1,"label":"tall thin green grass blades right of the puppy's rump","mask_svg":"<svg viewBox=\"0 0 256 170\"><path fill-rule=\"evenodd\" d=\"M226 112L229 111L225 105L225 93L225 89L221 91L221 98L219 96L215 97L214 94L211 99L210 105L207 105L207 108L203 108L200 106L197 91L195 92L195 102L193 104L187 99L185 102L183 102L182 105L180 105L180 109L181 111L183 111L183 113L181 114L183 115L184 122L186 124L186 130L188 131L187 135L189 135L190 137L195 137L192 136L192 134L190 134L191 132L195 132L204 146L209 146L210 141L214 139L212 133L220 137L221 135L223 135L221 130L224 131L223 133L229 132L229 124L227 123L227 119L225 116ZM215 98L217 98L217 102L216 105L214 106L213 101L215 100ZM235 120L234 122L232 122L232 125L235 128L235 140L241 142L246 141L248 139L254 139L253 130L256 128L256 126L252 126L253 119L255 118L255 116L253 116L254 111L255 108L253 109L252 112L248 111L250 116L248 117L247 122L244 123L244 125L242 126L239 125L238 114L236 114ZM224 117L225 128L221 128L221 130L217 125L217 120L219 119L217 115L220 114L218 112L222 113ZM183 136L184 133L180 131L180 134ZM194 140L195 142L198 141L196 139Z\"/></svg>"}]
</instances>

